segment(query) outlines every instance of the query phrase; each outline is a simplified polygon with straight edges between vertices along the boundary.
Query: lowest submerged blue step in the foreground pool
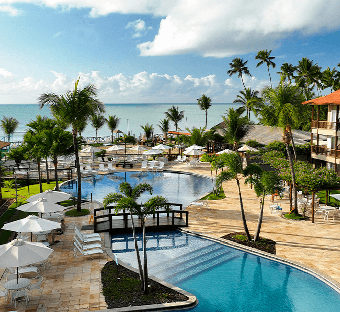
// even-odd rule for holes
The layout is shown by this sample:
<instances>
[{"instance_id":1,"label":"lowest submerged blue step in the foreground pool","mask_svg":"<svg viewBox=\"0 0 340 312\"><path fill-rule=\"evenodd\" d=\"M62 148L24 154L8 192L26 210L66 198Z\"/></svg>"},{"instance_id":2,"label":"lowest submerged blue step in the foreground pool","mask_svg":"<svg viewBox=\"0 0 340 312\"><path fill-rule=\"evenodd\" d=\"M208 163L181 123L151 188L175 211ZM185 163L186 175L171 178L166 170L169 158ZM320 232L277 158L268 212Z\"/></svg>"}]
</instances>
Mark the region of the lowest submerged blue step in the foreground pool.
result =
<instances>
[{"instance_id":1,"label":"lowest submerged blue step in the foreground pool","mask_svg":"<svg viewBox=\"0 0 340 312\"><path fill-rule=\"evenodd\" d=\"M203 261L201 263L197 263L189 268L178 271L177 273L164 276L163 280L176 285L179 282L183 282L187 279L193 277L197 273L202 273L212 269L213 267L219 266L222 263L232 261L233 259L239 258L239 255L234 254L232 252L225 252L220 255L217 255L209 260Z\"/></svg>"}]
</instances>

